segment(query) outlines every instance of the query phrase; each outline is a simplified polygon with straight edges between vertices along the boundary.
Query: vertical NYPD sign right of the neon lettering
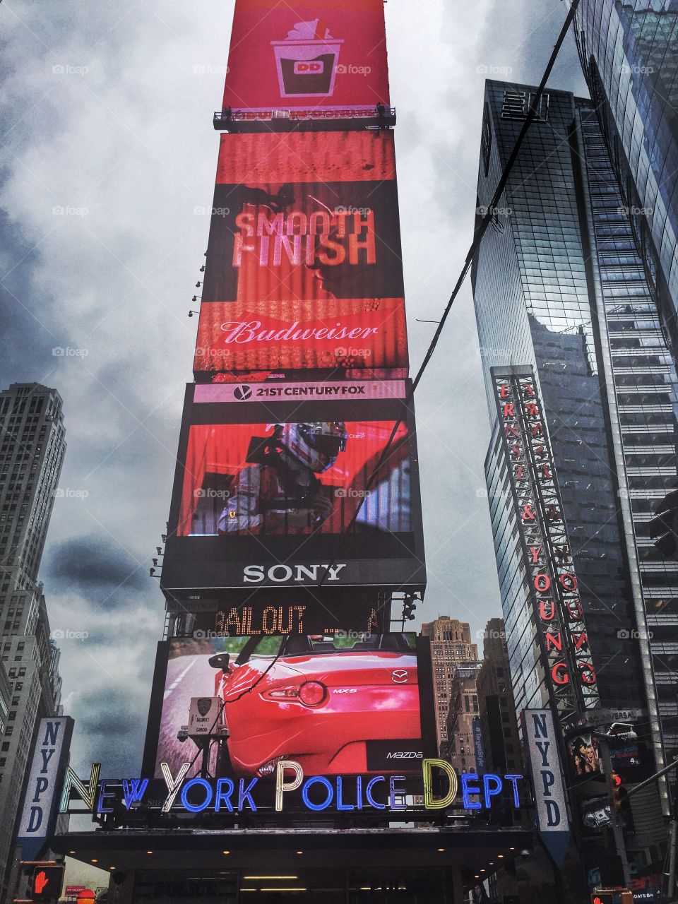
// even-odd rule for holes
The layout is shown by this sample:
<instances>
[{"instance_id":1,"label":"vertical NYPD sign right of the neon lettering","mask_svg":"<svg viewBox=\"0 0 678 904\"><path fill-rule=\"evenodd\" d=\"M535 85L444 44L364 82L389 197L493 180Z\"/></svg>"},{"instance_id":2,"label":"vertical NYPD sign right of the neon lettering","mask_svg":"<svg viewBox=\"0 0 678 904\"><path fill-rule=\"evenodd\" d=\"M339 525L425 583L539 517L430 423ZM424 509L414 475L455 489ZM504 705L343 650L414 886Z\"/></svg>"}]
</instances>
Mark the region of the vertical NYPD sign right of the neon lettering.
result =
<instances>
[{"instance_id":1,"label":"vertical NYPD sign right of the neon lettering","mask_svg":"<svg viewBox=\"0 0 678 904\"><path fill-rule=\"evenodd\" d=\"M532 774L534 822L558 866L570 843L558 740L551 710L523 710L523 739Z\"/></svg>"}]
</instances>

